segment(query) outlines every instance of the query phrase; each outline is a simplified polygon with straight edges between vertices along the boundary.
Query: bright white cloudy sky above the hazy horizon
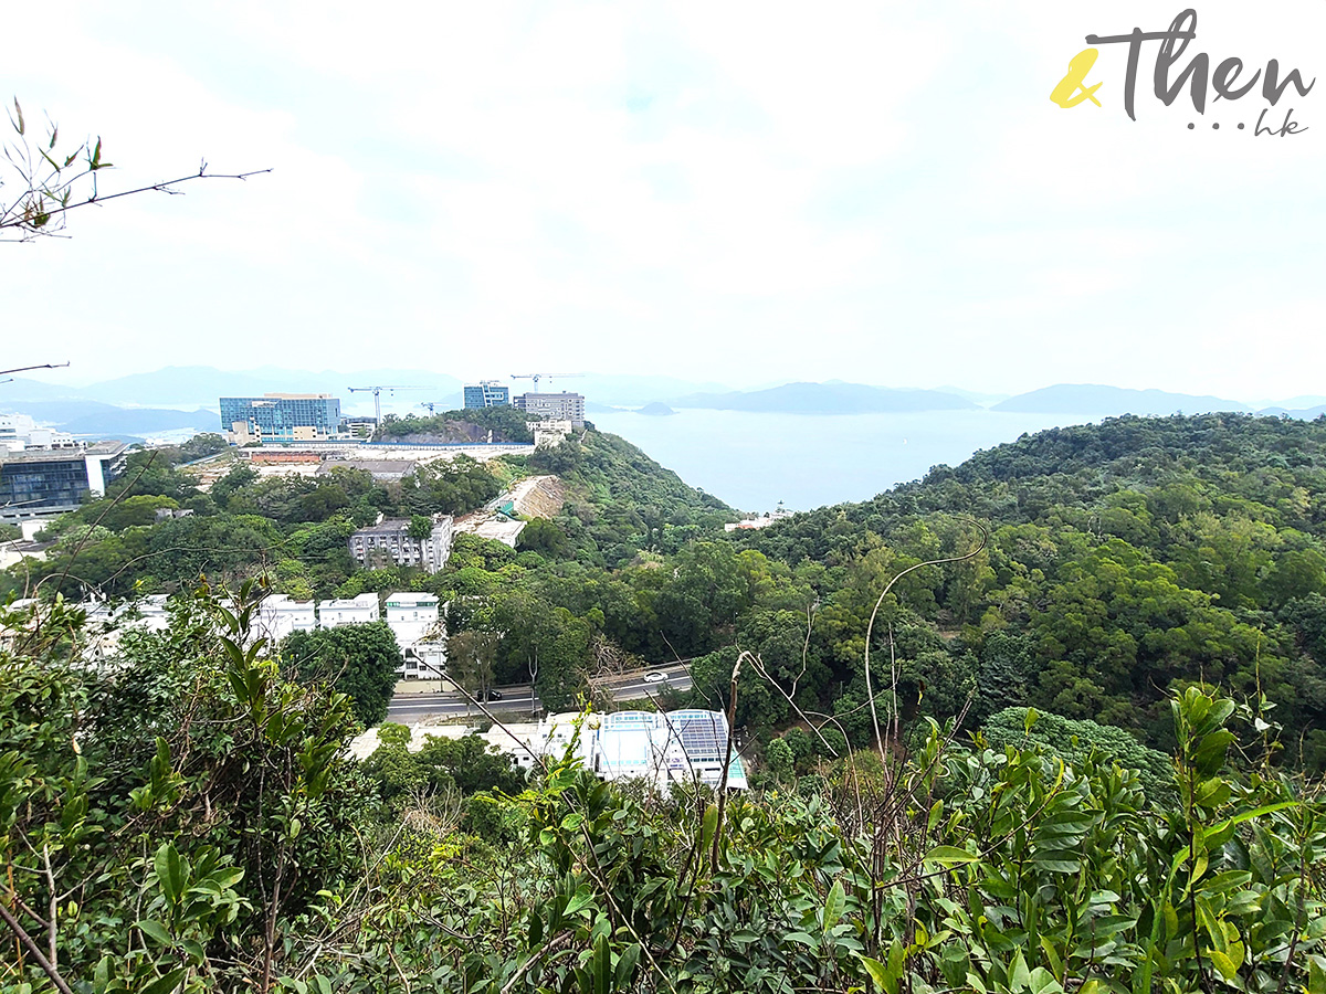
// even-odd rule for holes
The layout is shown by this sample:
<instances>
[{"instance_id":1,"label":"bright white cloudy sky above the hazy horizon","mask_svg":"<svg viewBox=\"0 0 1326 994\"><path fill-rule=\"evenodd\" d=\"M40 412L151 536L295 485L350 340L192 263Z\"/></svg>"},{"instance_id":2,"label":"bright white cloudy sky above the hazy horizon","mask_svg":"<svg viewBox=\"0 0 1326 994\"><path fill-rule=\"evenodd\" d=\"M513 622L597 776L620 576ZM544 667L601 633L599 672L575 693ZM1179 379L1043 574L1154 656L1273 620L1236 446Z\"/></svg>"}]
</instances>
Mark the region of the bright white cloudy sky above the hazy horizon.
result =
<instances>
[{"instance_id":1,"label":"bright white cloudy sky above the hazy horizon","mask_svg":"<svg viewBox=\"0 0 1326 994\"><path fill-rule=\"evenodd\" d=\"M103 193L272 171L0 244L0 366L1326 392L1326 3L1201 3L1172 73L1307 95L1166 106L1148 42L1136 121L1120 44L1101 106L1050 99L1087 34L1181 9L12 5L0 93L101 135Z\"/></svg>"}]
</instances>

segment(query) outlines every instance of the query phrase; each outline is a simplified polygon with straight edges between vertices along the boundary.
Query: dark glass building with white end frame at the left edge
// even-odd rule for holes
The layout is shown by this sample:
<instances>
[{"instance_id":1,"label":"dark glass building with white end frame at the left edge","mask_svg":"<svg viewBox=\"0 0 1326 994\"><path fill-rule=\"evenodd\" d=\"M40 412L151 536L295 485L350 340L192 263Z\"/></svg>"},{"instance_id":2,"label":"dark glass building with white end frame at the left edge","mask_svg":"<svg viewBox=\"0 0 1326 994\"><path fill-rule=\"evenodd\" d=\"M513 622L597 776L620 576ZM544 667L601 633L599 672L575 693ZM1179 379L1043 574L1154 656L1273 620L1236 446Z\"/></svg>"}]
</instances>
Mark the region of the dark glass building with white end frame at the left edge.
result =
<instances>
[{"instance_id":1,"label":"dark glass building with white end frame at the left edge","mask_svg":"<svg viewBox=\"0 0 1326 994\"><path fill-rule=\"evenodd\" d=\"M125 472L127 445L98 441L86 448L0 449L0 521L73 510Z\"/></svg>"}]
</instances>

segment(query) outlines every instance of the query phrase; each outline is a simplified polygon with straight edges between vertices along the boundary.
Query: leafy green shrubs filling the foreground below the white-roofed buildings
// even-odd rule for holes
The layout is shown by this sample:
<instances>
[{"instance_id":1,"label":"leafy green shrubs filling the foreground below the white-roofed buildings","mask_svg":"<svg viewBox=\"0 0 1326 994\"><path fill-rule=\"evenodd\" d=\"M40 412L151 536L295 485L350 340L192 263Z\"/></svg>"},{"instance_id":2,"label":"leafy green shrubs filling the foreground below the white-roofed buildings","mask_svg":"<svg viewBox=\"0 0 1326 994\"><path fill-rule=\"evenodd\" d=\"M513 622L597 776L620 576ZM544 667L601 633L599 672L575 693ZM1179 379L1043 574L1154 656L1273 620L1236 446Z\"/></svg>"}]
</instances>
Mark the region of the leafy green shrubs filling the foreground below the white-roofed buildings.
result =
<instances>
[{"instance_id":1,"label":"leafy green shrubs filling the foreground below the white-roofed buildings","mask_svg":"<svg viewBox=\"0 0 1326 994\"><path fill-rule=\"evenodd\" d=\"M1171 700L1166 803L1095 751L931 726L723 803L525 782L383 726L176 603L115 667L80 618L5 614L0 846L12 990L1319 990L1326 808L1261 712ZM245 645L249 648L245 649ZM1260 704L1260 702L1258 702ZM1034 730L1025 716L1024 732ZM1233 746L1240 746L1232 750Z\"/></svg>"}]
</instances>

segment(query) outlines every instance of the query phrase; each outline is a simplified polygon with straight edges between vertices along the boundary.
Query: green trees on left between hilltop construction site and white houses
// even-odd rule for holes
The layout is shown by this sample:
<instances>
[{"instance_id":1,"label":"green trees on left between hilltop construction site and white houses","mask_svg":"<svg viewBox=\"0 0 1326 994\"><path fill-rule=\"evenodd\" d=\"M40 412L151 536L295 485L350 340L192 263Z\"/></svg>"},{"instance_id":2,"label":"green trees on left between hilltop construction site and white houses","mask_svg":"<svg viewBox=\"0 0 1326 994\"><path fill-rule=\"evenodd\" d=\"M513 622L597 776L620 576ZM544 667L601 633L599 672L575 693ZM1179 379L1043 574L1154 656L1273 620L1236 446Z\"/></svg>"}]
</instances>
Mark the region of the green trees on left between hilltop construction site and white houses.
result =
<instances>
[{"instance_id":1,"label":"green trees on left between hilltop construction site and white houses","mask_svg":"<svg viewBox=\"0 0 1326 994\"><path fill-rule=\"evenodd\" d=\"M346 468L318 477L260 477L236 461L204 494L195 477L171 461L187 455L131 453L127 470L103 500L46 529L56 546L32 579L50 578L46 586L69 596L88 590L123 596L187 588L199 575L240 582L265 573L277 590L296 598L338 591L353 596L363 588L362 582L350 582L355 563L346 539L355 527L379 514L461 513L501 492L481 463L459 456L423 465L390 485ZM163 508L192 514L158 521Z\"/></svg>"}]
</instances>

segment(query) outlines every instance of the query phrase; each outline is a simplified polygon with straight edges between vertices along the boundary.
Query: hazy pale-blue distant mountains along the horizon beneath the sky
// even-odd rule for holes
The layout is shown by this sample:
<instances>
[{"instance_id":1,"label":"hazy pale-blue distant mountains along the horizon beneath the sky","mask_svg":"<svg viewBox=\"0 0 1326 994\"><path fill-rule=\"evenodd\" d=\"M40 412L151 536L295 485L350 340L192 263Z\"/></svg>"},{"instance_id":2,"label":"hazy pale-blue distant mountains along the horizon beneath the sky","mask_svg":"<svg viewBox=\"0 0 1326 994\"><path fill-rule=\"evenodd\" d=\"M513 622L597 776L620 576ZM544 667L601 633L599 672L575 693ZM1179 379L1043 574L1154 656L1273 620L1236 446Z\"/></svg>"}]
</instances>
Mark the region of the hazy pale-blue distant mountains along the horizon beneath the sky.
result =
<instances>
[{"instance_id":1,"label":"hazy pale-blue distant mountains along the horizon beneath the sky","mask_svg":"<svg viewBox=\"0 0 1326 994\"><path fill-rule=\"evenodd\" d=\"M501 379L512 394L533 390L530 378ZM419 412L423 403L438 410L460 407L463 382L450 374L427 370L373 368L354 372L325 370L281 370L261 367L245 371L211 366L168 366L154 372L138 372L85 387L15 378L0 383L0 414L27 414L42 424L85 436L146 436L168 431L220 431L216 414L221 396L255 396L267 392L333 394L341 398L346 414L371 414L369 392L350 387L382 384L385 414ZM391 390L395 386L396 390ZM422 387L404 390L402 387ZM855 415L920 411L980 411L1020 414L1062 414L1066 416L1111 416L1123 414L1170 415L1179 411L1241 411L1249 404L1216 396L1172 394L1162 390L1127 390L1101 384L1066 384L1033 390L1008 398L957 387L908 390L863 383L784 383L782 386L735 391L717 383L691 382L674 376L579 374L541 376L540 391L570 390L586 396L586 410L601 414L623 407L646 408L650 414L700 408L749 411L752 414ZM658 404L658 407L654 407ZM1290 398L1261 407L1264 415L1317 417L1326 414L1326 399Z\"/></svg>"}]
</instances>

